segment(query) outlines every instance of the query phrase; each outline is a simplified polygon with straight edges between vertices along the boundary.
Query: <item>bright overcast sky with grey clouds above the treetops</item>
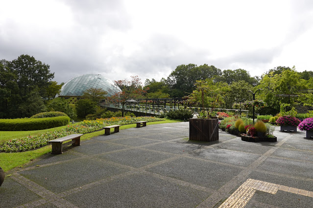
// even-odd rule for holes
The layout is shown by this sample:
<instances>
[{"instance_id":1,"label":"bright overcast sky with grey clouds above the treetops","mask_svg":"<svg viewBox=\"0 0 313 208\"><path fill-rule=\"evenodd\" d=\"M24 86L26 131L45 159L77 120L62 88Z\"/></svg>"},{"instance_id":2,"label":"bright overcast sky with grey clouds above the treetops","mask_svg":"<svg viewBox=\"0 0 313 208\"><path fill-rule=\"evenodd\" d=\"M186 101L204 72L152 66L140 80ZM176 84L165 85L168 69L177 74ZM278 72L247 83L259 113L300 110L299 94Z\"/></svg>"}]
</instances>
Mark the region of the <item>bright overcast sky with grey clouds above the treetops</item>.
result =
<instances>
[{"instance_id":1,"label":"bright overcast sky with grey clouds above the treetops","mask_svg":"<svg viewBox=\"0 0 313 208\"><path fill-rule=\"evenodd\" d=\"M313 0L0 0L0 59L81 74L159 81L207 63L261 76L313 70Z\"/></svg>"}]
</instances>

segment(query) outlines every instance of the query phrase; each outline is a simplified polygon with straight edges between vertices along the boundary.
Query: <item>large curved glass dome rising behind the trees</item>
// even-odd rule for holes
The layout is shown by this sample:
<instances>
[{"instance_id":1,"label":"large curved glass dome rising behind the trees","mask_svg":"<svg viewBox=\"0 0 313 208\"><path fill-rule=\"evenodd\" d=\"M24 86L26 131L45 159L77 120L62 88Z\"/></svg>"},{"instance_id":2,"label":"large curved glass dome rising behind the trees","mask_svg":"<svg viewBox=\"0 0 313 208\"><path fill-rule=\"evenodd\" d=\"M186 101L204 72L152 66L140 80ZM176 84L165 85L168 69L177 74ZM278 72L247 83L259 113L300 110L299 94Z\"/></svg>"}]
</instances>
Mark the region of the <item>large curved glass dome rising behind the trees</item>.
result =
<instances>
[{"instance_id":1,"label":"large curved glass dome rising behind the trees","mask_svg":"<svg viewBox=\"0 0 313 208\"><path fill-rule=\"evenodd\" d=\"M82 96L83 92L89 88L101 88L108 92L107 96L112 96L120 92L120 87L113 81L104 78L99 74L84 74L72 78L62 85L59 97Z\"/></svg>"}]
</instances>

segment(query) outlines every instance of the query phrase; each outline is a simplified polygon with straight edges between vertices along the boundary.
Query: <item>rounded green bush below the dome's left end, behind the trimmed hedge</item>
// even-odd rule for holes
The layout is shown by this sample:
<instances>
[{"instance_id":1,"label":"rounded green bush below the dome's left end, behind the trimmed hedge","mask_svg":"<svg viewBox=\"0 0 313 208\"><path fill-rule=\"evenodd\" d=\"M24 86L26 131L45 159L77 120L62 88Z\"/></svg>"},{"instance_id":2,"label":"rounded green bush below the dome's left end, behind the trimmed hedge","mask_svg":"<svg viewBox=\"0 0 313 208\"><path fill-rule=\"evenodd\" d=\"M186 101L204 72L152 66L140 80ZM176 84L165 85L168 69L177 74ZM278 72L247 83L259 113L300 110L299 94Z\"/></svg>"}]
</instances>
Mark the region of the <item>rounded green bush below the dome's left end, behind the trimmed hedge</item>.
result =
<instances>
[{"instance_id":1,"label":"rounded green bush below the dome's left end, behind the trimmed hedge","mask_svg":"<svg viewBox=\"0 0 313 208\"><path fill-rule=\"evenodd\" d=\"M47 104L48 111L60 111L68 115L72 120L77 117L76 112L65 99L53 99Z\"/></svg>"}]
</instances>

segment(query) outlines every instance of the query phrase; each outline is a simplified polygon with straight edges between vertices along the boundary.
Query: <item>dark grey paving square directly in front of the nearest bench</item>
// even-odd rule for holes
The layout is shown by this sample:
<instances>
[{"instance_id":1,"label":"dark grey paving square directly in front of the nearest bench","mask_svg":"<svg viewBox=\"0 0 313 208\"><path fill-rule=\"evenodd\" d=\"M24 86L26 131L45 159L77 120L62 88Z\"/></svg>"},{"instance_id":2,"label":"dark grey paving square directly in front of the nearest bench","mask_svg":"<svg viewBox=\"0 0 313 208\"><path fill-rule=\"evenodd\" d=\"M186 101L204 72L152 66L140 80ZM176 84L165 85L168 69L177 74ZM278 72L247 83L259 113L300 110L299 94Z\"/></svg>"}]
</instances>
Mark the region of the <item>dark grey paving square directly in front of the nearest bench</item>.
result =
<instances>
[{"instance_id":1,"label":"dark grey paving square directly in front of the nearest bench","mask_svg":"<svg viewBox=\"0 0 313 208\"><path fill-rule=\"evenodd\" d=\"M21 171L20 174L52 192L61 193L128 170L95 159L82 158L51 166L38 166Z\"/></svg>"}]
</instances>

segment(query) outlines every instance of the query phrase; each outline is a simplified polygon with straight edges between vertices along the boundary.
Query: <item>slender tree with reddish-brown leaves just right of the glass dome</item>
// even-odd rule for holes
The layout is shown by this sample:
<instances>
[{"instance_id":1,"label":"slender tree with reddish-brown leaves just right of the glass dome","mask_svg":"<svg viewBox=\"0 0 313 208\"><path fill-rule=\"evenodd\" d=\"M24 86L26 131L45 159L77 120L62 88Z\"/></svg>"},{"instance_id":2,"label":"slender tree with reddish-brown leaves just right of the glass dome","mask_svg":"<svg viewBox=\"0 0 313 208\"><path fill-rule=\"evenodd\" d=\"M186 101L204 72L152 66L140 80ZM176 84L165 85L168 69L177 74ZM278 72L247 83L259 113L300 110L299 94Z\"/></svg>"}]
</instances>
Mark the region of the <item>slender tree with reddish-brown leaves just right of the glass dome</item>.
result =
<instances>
[{"instance_id":1,"label":"slender tree with reddish-brown leaves just right of the glass dome","mask_svg":"<svg viewBox=\"0 0 313 208\"><path fill-rule=\"evenodd\" d=\"M146 91L142 89L140 80L138 76L131 76L131 81L127 79L114 81L122 91L112 95L108 100L112 103L120 104L122 116L124 116L125 104L128 100L143 98L143 93Z\"/></svg>"}]
</instances>

